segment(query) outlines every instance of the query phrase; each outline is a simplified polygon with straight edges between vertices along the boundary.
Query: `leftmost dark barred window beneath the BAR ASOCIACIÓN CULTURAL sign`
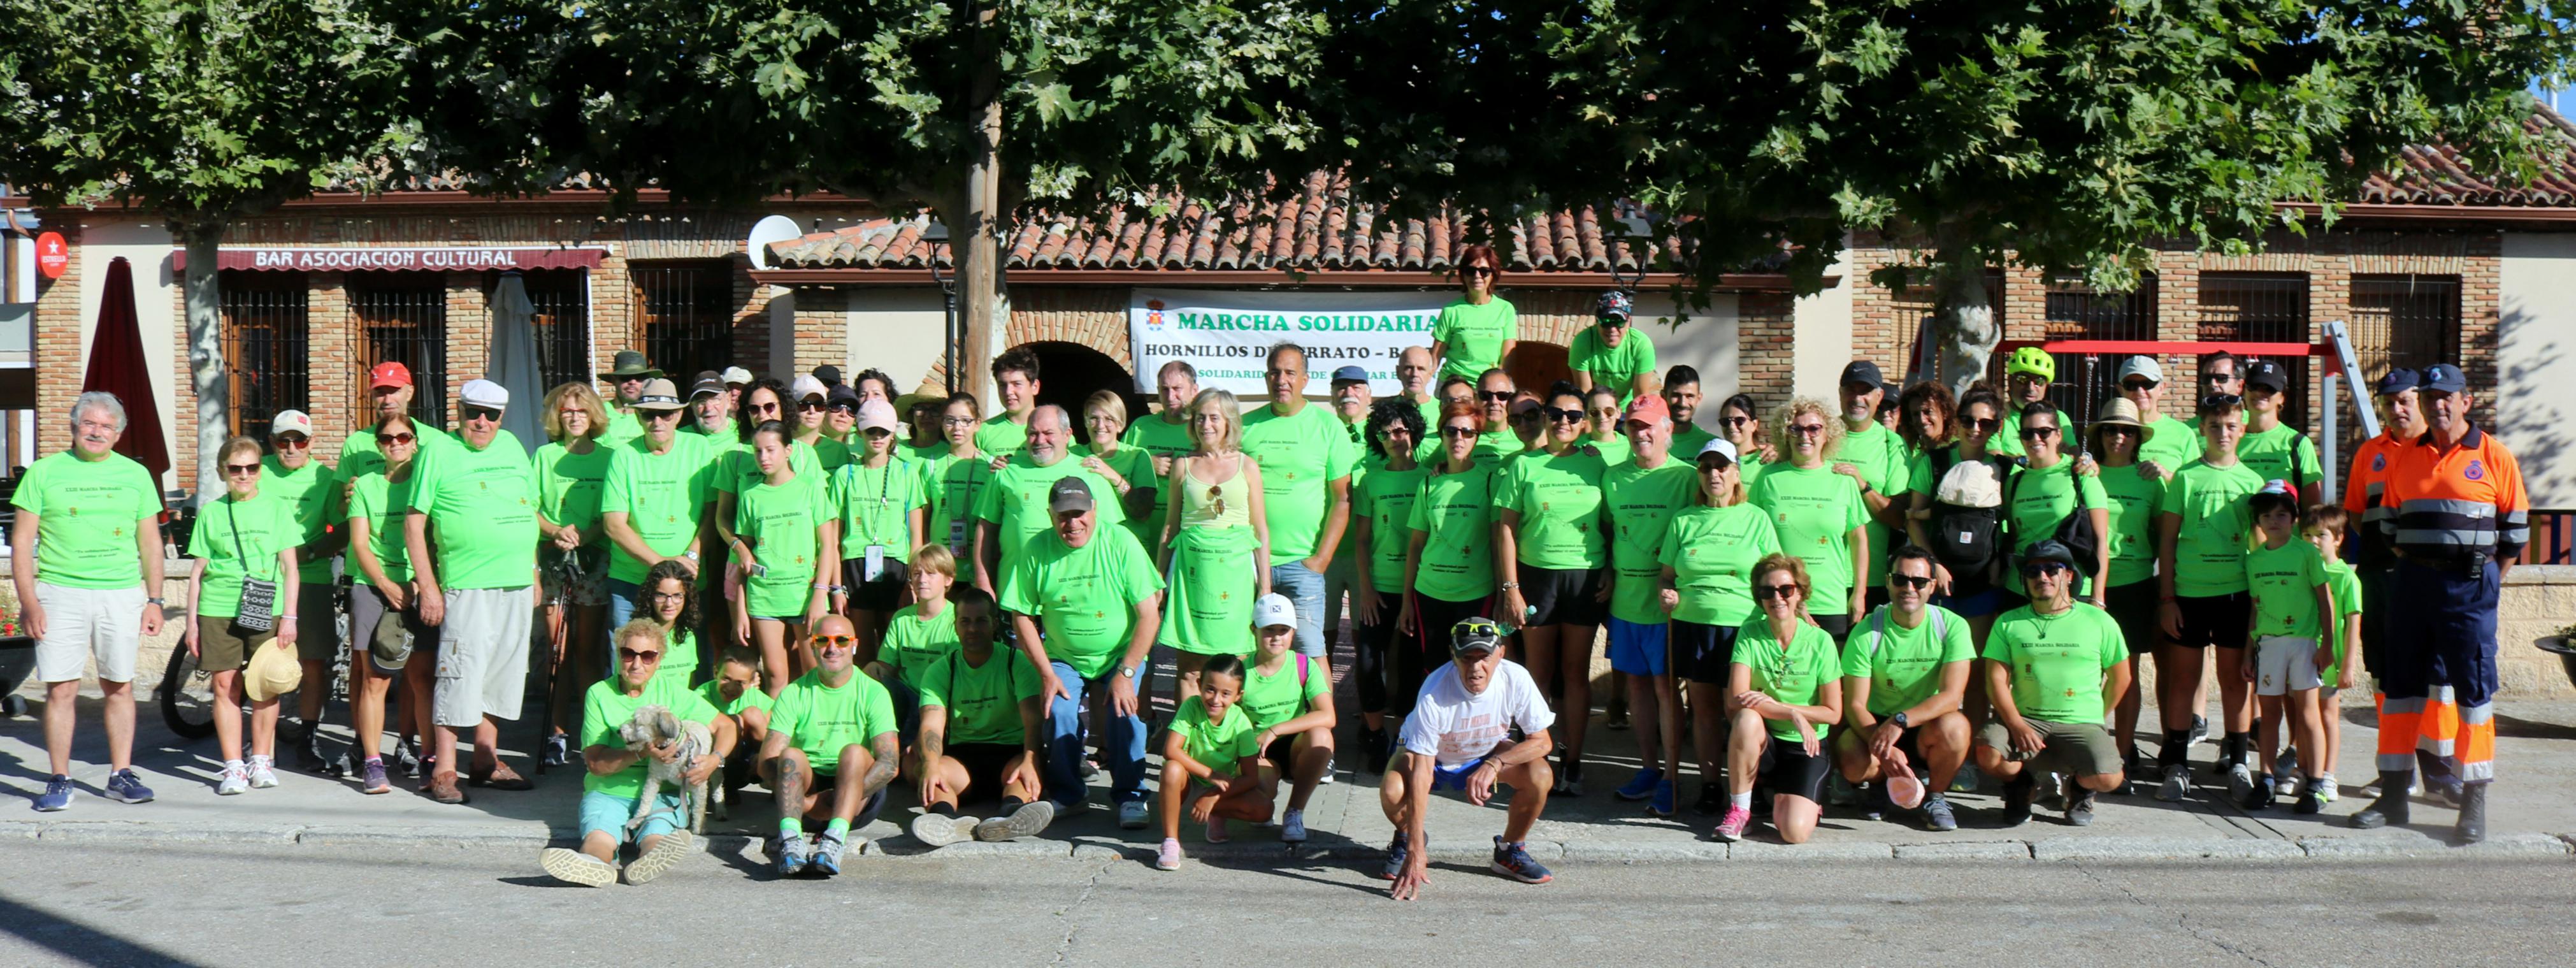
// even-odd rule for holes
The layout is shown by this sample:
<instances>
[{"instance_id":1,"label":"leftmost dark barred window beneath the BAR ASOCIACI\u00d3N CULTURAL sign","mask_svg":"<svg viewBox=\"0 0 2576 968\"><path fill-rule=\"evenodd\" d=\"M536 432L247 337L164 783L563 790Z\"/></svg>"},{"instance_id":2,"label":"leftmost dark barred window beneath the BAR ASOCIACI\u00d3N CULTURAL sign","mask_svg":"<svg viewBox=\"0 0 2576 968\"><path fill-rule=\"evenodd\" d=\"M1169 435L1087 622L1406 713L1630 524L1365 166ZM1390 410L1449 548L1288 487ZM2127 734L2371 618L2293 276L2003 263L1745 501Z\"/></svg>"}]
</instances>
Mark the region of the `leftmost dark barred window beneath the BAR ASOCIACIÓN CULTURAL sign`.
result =
<instances>
[{"instance_id":1,"label":"leftmost dark barred window beneath the BAR ASOCIACI\u00d3N CULTURAL sign","mask_svg":"<svg viewBox=\"0 0 2576 968\"><path fill-rule=\"evenodd\" d=\"M219 273L232 433L268 438L283 409L312 412L312 312L304 273Z\"/></svg>"}]
</instances>

